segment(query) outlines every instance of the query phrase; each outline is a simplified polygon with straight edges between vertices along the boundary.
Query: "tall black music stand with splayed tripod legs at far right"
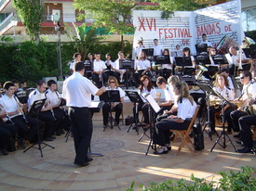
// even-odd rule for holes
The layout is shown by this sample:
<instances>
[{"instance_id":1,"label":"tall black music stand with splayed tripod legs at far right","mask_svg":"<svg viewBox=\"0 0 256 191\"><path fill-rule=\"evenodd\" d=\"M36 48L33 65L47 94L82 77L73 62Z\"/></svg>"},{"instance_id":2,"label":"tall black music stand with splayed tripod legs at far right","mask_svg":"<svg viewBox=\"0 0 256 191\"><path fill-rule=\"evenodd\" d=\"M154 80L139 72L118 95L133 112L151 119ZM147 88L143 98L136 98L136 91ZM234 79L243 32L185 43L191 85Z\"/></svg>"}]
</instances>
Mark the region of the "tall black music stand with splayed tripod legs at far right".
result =
<instances>
[{"instance_id":1,"label":"tall black music stand with splayed tripod legs at far right","mask_svg":"<svg viewBox=\"0 0 256 191\"><path fill-rule=\"evenodd\" d=\"M237 152L236 150L236 147L234 146L233 142L231 141L230 137L228 136L228 134L225 132L225 115L224 115L224 107L226 105L232 105L228 100L226 100L222 95L220 95L218 92L214 91L209 84L203 84L203 83L198 83L197 84L203 91L206 92L207 95L211 95L211 96L218 96L219 98L221 98L222 100L222 132L220 133L220 135L218 136L217 140L215 141L214 145L212 146L212 148L210 149L210 151L213 150L213 148L216 146L216 144L219 144L220 146L222 146L222 148L225 148L229 143L231 143L231 145L235 148L235 151ZM209 98L209 97L208 97ZM209 100L208 100L208 104L209 104ZM209 111L208 111L209 112ZM209 113L208 113L209 114ZM209 129L210 130L210 129ZM209 131L210 133L210 131ZM222 137L223 136L223 137ZM222 145L219 143L221 137L223 138L222 139ZM229 143L226 144L226 137L228 138L229 140Z\"/></svg>"}]
</instances>

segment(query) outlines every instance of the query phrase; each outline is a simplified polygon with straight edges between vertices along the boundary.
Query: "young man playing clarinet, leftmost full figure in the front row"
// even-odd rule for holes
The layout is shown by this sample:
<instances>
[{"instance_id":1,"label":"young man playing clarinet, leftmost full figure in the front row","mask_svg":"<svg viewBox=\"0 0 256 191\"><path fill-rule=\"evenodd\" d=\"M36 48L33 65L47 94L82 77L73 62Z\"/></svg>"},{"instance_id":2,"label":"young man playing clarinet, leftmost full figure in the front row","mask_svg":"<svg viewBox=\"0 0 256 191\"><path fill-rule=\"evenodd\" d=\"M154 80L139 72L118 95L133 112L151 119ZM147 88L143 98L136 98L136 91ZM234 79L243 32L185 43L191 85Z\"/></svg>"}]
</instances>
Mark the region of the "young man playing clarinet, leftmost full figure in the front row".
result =
<instances>
[{"instance_id":1,"label":"young man playing clarinet, leftmost full figure in the front row","mask_svg":"<svg viewBox=\"0 0 256 191\"><path fill-rule=\"evenodd\" d=\"M19 129L18 142L22 148L25 148L25 140L35 142L37 139L37 121L34 118L25 116L22 111L22 104L17 96L14 96L14 83L4 83L5 96L0 99L0 104L7 111L8 118L4 118L8 124L14 123ZM29 125L29 127L27 126Z\"/></svg>"}]
</instances>

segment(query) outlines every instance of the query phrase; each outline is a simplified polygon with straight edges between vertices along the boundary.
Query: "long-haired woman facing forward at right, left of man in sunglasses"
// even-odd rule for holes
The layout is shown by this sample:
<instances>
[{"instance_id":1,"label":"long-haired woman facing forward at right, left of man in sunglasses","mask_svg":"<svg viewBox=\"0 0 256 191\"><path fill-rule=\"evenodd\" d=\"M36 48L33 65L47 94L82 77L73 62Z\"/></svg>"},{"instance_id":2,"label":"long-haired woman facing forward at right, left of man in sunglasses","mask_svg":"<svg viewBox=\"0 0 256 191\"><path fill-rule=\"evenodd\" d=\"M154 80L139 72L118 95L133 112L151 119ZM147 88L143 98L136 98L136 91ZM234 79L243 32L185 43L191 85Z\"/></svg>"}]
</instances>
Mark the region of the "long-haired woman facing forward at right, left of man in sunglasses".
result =
<instances>
[{"instance_id":1,"label":"long-haired woman facing forward at right, left of man in sunglasses","mask_svg":"<svg viewBox=\"0 0 256 191\"><path fill-rule=\"evenodd\" d=\"M228 87L228 81L225 75L218 74L216 80L214 81L213 90L219 93L222 97L224 97L227 101L234 100L234 91L232 91ZM217 96L209 96L209 102L213 103L213 106L209 107L209 128L210 134L215 134L215 113L221 111L222 112L222 100ZM230 105L224 106L224 115L225 120L228 123L227 133L232 134L232 129L234 129L232 119L230 118L230 113L234 110Z\"/></svg>"}]
</instances>

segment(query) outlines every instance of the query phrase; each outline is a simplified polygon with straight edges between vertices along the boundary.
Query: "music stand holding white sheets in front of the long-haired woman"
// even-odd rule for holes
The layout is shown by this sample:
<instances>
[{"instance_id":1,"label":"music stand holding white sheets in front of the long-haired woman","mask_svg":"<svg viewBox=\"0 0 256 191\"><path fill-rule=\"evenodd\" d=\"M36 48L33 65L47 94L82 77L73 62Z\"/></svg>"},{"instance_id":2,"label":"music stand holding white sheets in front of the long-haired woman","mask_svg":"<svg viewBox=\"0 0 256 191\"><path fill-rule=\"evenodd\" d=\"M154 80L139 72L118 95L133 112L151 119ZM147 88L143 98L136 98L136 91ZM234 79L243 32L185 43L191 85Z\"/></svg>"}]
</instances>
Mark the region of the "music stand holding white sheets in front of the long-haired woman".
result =
<instances>
[{"instance_id":1,"label":"music stand holding white sheets in front of the long-haired woman","mask_svg":"<svg viewBox=\"0 0 256 191\"><path fill-rule=\"evenodd\" d=\"M149 109L148 109L148 112L149 112L149 121L151 124L153 125L150 125L149 126L149 130L150 130L150 142L149 142L149 145L148 145L148 148L147 148L147 151L146 151L146 155L148 154L148 151L149 151L149 148L150 146L152 146L152 148L154 148L154 144L153 144L153 134L155 134L155 113L159 113L161 111L161 108L158 106L158 104L155 102L155 99L153 98L153 96L149 94L145 95L144 96L145 99L147 100L147 102L149 103ZM154 112L155 111L155 112ZM143 134L141 134L141 138L143 135L145 135L147 132L147 130L144 131Z\"/></svg>"}]
</instances>

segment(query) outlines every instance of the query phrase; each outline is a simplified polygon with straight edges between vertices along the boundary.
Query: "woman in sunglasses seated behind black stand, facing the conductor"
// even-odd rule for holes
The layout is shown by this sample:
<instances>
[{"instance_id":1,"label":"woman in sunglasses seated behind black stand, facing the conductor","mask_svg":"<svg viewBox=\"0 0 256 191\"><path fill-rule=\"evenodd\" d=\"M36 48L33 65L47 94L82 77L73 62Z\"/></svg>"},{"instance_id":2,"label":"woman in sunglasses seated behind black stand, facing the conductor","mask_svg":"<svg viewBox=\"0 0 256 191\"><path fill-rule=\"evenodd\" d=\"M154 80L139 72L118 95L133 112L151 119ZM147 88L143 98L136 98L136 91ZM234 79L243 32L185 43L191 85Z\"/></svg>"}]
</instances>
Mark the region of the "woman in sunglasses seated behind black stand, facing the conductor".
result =
<instances>
[{"instance_id":1,"label":"woman in sunglasses seated behind black stand, facing the conductor","mask_svg":"<svg viewBox=\"0 0 256 191\"><path fill-rule=\"evenodd\" d=\"M126 93L120 87L118 87L118 85L119 84L117 82L117 79L114 76L110 76L108 79L106 90L118 90L121 102L111 102L111 105L109 102L104 103L102 107L104 128L106 128L107 126L109 112L111 111L112 108L115 108L115 122L117 125L119 124L119 119L123 111L123 102L124 102Z\"/></svg>"}]
</instances>

